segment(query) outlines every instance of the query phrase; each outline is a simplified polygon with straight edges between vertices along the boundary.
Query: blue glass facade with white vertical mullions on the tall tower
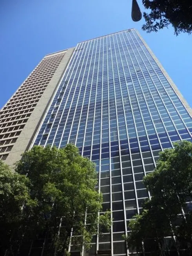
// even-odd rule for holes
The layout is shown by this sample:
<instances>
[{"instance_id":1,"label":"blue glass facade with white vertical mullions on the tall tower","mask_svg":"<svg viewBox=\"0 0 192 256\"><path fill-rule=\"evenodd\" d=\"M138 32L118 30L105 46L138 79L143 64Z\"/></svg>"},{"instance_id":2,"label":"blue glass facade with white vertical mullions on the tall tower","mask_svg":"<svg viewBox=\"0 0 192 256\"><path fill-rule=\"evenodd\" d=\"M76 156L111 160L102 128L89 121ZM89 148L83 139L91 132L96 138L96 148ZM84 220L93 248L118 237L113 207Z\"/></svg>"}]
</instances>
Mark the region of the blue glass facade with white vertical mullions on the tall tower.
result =
<instances>
[{"instance_id":1,"label":"blue glass facade with white vertical mullions on the tall tower","mask_svg":"<svg viewBox=\"0 0 192 256\"><path fill-rule=\"evenodd\" d=\"M192 117L135 29L76 46L33 145L74 143L96 163L113 225L85 255L127 254L122 234L150 196L143 176L159 151L191 134Z\"/></svg>"}]
</instances>

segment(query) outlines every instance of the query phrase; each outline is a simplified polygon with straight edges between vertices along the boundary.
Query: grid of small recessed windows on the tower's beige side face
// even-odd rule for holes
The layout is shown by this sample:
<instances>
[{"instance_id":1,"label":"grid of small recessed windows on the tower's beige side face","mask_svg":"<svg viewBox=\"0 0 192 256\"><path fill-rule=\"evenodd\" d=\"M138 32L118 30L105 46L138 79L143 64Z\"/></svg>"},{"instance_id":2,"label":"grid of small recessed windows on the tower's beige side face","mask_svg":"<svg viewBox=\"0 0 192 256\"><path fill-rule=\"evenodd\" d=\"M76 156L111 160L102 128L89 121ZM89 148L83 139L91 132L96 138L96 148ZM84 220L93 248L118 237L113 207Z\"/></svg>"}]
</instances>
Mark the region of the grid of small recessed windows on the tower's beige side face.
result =
<instances>
[{"instance_id":1,"label":"grid of small recessed windows on the tower's beige side face","mask_svg":"<svg viewBox=\"0 0 192 256\"><path fill-rule=\"evenodd\" d=\"M45 56L0 111L0 159L7 158L64 56Z\"/></svg>"}]
</instances>

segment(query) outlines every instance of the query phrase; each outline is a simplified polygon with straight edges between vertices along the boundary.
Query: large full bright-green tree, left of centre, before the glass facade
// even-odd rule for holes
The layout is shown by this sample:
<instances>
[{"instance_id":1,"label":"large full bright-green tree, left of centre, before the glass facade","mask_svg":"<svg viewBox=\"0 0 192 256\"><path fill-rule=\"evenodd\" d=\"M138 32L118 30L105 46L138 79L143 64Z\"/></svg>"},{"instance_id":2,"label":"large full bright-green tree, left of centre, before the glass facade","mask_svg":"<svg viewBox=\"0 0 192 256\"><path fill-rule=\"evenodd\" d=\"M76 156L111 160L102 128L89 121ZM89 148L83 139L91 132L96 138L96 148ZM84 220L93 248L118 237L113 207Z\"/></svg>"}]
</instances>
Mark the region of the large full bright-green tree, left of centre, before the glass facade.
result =
<instances>
[{"instance_id":1,"label":"large full bright-green tree, left of centre, before the glass facade","mask_svg":"<svg viewBox=\"0 0 192 256\"><path fill-rule=\"evenodd\" d=\"M45 231L46 255L64 255L71 231L72 244L88 248L98 223L101 229L110 229L109 213L98 215L102 195L95 190L94 163L80 156L74 145L34 146L22 155L16 171L30 180L31 199L37 204L30 213L28 233L35 238Z\"/></svg>"}]
</instances>

